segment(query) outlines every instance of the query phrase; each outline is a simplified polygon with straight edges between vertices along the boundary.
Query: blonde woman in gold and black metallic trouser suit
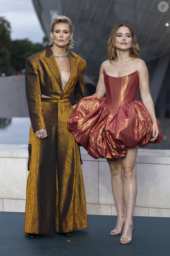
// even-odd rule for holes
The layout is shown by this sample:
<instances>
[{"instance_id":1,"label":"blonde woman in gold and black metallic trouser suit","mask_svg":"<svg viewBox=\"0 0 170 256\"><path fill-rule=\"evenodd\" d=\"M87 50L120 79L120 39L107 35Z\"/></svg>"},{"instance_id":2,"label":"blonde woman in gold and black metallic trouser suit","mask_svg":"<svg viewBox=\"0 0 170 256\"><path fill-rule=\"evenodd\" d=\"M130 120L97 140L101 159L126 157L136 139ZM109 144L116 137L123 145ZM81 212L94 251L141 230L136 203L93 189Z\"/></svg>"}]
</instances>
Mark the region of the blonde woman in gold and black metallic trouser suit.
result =
<instances>
[{"instance_id":1,"label":"blonde woman in gold and black metallic trouser suit","mask_svg":"<svg viewBox=\"0 0 170 256\"><path fill-rule=\"evenodd\" d=\"M26 96L31 120L25 232L62 233L87 228L79 145L67 122L84 96L86 61L68 50L74 26L59 16L51 22L51 45L26 59Z\"/></svg>"}]
</instances>

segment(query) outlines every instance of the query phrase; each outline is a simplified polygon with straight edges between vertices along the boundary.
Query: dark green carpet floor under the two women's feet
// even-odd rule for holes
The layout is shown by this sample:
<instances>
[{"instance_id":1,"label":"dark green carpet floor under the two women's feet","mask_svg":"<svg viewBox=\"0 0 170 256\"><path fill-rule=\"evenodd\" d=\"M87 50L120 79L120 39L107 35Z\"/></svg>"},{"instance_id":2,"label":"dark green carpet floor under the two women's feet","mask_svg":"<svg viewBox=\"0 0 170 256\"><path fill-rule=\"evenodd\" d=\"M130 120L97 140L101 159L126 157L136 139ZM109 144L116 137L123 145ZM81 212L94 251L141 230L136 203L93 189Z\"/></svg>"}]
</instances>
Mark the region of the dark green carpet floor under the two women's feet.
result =
<instances>
[{"instance_id":1,"label":"dark green carpet floor under the two women's feet","mask_svg":"<svg viewBox=\"0 0 170 256\"><path fill-rule=\"evenodd\" d=\"M23 212L0 212L0 256L164 256L170 255L170 218L133 217L132 243L121 245L120 236L109 235L116 216L88 215L89 228L72 237L38 235L29 239L23 232Z\"/></svg>"}]
</instances>

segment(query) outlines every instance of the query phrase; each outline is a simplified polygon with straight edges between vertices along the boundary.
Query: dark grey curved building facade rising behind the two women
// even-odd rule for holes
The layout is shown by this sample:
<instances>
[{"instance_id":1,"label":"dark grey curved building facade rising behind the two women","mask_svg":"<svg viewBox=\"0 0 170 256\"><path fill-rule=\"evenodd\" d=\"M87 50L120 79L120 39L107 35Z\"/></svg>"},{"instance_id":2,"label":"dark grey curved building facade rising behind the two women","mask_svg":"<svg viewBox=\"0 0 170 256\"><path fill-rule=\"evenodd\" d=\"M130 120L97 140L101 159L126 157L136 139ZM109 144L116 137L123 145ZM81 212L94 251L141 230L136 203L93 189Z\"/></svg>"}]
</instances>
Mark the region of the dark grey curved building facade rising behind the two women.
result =
<instances>
[{"instance_id":1,"label":"dark grey curved building facade rising behind the two women","mask_svg":"<svg viewBox=\"0 0 170 256\"><path fill-rule=\"evenodd\" d=\"M150 92L156 105L164 105L170 83L170 0L33 0L38 18L50 38L50 22L59 15L68 16L75 27L74 51L87 60L85 73L97 83L101 63L107 58L107 41L116 24L133 27L140 56L147 63ZM169 9L168 8L169 4ZM165 11L167 10L167 11ZM165 24L169 23L169 26ZM165 82L166 81L166 82ZM169 81L169 82L168 82ZM160 96L159 96L160 95ZM164 106L161 106L163 109ZM164 117L163 110L159 117ZM169 101L170 117L170 101Z\"/></svg>"}]
</instances>

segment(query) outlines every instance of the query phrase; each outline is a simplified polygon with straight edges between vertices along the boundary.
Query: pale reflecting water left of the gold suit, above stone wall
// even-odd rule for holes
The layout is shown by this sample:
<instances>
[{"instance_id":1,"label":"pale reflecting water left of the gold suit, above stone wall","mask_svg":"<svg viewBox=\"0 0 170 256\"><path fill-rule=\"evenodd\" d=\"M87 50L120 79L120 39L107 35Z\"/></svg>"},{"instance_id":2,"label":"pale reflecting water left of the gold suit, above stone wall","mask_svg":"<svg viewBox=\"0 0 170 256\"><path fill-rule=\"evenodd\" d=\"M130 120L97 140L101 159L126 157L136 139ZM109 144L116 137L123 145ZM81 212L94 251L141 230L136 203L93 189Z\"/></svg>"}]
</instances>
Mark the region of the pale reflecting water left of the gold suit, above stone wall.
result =
<instances>
[{"instance_id":1,"label":"pale reflecting water left of the gold suit, above stone wall","mask_svg":"<svg viewBox=\"0 0 170 256\"><path fill-rule=\"evenodd\" d=\"M28 144L29 117L0 118L0 144Z\"/></svg>"}]
</instances>

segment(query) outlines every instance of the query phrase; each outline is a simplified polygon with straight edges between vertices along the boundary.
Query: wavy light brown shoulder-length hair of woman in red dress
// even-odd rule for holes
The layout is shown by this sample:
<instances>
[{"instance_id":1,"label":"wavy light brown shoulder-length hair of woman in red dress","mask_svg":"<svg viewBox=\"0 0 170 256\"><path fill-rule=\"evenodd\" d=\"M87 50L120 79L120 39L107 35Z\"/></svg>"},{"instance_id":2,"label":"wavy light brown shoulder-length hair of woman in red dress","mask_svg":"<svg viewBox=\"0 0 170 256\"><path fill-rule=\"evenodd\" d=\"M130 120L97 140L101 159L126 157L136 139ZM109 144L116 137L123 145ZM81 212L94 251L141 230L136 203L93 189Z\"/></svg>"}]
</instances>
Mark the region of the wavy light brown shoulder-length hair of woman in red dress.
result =
<instances>
[{"instance_id":1,"label":"wavy light brown shoulder-length hair of woman in red dress","mask_svg":"<svg viewBox=\"0 0 170 256\"><path fill-rule=\"evenodd\" d=\"M128 29L130 29L130 34L132 36L132 47L129 49L129 56L132 58L137 58L137 59L140 58L139 57L139 45L137 43L137 39L136 39L134 30L132 29L132 27L130 27L127 24L118 24L112 29L112 31L110 33L110 38L108 40L108 48L107 48L107 54L108 54L107 59L114 60L117 57L116 48L115 48L115 38L117 36L118 28L120 28L120 27L127 27Z\"/></svg>"}]
</instances>

